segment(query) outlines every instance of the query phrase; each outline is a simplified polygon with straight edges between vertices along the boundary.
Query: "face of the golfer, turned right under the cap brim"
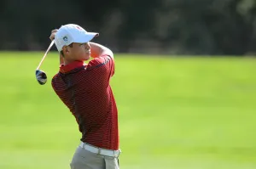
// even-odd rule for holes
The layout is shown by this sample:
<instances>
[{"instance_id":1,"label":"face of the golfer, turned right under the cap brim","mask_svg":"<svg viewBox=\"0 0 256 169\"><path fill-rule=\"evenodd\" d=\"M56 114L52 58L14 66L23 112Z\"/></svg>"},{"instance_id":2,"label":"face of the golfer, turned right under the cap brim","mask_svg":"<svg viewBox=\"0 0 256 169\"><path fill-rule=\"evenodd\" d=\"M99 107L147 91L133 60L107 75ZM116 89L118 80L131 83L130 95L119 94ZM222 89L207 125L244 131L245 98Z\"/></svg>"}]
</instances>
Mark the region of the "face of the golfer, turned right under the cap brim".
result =
<instances>
[{"instance_id":1,"label":"face of the golfer, turned right under the cap brim","mask_svg":"<svg viewBox=\"0 0 256 169\"><path fill-rule=\"evenodd\" d=\"M90 43L77 43L73 42L73 47L66 46L63 48L63 53L65 55L64 59L67 62L72 62L75 60L88 60L90 59Z\"/></svg>"}]
</instances>

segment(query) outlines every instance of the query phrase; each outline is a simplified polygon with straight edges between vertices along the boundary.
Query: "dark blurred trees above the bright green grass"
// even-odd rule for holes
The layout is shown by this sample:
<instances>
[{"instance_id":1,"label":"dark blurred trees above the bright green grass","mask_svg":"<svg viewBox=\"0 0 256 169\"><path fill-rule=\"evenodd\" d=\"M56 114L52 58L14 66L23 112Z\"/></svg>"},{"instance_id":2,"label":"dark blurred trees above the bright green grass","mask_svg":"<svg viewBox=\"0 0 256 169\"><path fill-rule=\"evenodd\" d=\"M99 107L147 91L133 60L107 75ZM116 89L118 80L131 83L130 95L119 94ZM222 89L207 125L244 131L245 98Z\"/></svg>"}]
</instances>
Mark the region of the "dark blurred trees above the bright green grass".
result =
<instances>
[{"instance_id":1,"label":"dark blurred trees above the bright green grass","mask_svg":"<svg viewBox=\"0 0 256 169\"><path fill-rule=\"evenodd\" d=\"M119 53L254 54L254 0L1 0L2 50L43 50L76 23Z\"/></svg>"}]
</instances>

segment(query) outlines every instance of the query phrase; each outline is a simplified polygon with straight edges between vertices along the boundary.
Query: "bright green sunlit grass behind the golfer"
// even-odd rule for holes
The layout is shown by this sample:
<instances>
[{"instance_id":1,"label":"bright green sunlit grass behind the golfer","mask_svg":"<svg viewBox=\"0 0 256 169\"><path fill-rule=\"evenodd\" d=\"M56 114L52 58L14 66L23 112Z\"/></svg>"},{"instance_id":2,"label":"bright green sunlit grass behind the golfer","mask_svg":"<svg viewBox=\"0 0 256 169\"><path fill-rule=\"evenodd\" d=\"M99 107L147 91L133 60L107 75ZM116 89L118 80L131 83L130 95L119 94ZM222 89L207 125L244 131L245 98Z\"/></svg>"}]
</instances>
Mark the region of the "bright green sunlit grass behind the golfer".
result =
<instances>
[{"instance_id":1,"label":"bright green sunlit grass behind the golfer","mask_svg":"<svg viewBox=\"0 0 256 169\"><path fill-rule=\"evenodd\" d=\"M0 168L68 169L80 133L50 86L58 55L0 53ZM256 168L256 59L116 55L121 169Z\"/></svg>"}]
</instances>

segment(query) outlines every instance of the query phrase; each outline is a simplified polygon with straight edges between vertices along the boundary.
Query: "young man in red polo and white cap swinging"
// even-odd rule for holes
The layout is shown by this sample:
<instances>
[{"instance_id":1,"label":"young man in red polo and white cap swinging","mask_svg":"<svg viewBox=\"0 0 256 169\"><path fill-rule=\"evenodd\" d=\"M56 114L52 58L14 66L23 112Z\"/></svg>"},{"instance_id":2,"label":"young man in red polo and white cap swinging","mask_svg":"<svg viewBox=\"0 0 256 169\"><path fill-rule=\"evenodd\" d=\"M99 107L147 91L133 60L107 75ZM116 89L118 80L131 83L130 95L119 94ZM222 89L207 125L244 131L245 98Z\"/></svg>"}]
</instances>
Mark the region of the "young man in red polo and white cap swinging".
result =
<instances>
[{"instance_id":1,"label":"young man in red polo and white cap swinging","mask_svg":"<svg viewBox=\"0 0 256 169\"><path fill-rule=\"evenodd\" d=\"M90 42L97 33L79 25L62 25L50 39L60 52L60 71L52 87L73 113L82 132L72 169L119 169L118 110L109 80L114 74L113 53ZM86 65L84 61L93 58Z\"/></svg>"}]
</instances>

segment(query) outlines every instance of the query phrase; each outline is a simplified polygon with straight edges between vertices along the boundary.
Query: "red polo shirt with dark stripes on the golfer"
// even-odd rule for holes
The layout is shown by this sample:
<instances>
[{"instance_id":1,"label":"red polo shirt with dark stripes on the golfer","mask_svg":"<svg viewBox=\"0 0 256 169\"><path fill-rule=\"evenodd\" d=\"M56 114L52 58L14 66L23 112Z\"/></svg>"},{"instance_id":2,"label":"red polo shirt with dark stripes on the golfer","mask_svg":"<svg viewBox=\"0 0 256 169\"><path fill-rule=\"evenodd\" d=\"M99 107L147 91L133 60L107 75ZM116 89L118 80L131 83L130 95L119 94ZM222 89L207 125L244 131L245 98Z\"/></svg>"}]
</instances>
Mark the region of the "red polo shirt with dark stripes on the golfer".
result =
<instances>
[{"instance_id":1,"label":"red polo shirt with dark stripes on the golfer","mask_svg":"<svg viewBox=\"0 0 256 169\"><path fill-rule=\"evenodd\" d=\"M118 110L109 80L113 58L103 55L88 65L74 61L61 65L52 87L74 115L81 141L103 149L119 149Z\"/></svg>"}]
</instances>

